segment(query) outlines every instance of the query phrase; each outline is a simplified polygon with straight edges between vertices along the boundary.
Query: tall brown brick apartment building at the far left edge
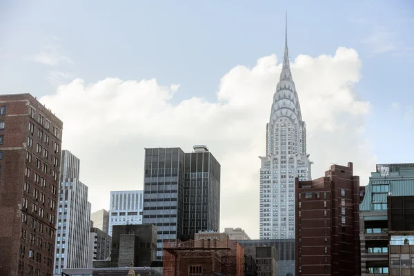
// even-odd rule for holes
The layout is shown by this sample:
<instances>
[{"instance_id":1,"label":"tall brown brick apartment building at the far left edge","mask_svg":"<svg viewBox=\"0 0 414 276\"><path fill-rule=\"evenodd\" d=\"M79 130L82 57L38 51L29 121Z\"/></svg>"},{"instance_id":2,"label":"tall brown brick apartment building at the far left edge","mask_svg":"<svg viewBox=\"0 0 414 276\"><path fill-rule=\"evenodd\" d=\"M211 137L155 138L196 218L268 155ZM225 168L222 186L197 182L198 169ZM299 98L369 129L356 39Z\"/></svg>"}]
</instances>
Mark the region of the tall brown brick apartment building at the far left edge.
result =
<instances>
[{"instance_id":1,"label":"tall brown brick apartment building at the far left edge","mask_svg":"<svg viewBox=\"0 0 414 276\"><path fill-rule=\"evenodd\" d=\"M31 95L0 96L0 275L53 273L62 127Z\"/></svg>"}]
</instances>

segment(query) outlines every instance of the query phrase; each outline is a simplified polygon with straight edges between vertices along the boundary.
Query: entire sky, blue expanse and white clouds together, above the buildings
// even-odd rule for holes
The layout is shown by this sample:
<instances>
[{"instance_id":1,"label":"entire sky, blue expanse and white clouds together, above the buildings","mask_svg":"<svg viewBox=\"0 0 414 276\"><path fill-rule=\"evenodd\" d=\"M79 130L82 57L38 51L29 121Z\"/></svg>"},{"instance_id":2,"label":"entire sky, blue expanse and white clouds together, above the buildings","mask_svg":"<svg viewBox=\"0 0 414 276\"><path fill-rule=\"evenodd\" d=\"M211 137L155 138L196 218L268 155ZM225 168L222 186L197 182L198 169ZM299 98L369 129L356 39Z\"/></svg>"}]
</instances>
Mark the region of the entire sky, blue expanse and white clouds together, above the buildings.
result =
<instances>
[{"instance_id":1,"label":"entire sky, blue expanse and white clouds together, above the buildings","mask_svg":"<svg viewBox=\"0 0 414 276\"><path fill-rule=\"evenodd\" d=\"M312 177L413 162L414 3L0 1L0 92L63 120L92 210L139 190L144 148L205 144L220 228L259 237L259 155L288 46Z\"/></svg>"}]
</instances>

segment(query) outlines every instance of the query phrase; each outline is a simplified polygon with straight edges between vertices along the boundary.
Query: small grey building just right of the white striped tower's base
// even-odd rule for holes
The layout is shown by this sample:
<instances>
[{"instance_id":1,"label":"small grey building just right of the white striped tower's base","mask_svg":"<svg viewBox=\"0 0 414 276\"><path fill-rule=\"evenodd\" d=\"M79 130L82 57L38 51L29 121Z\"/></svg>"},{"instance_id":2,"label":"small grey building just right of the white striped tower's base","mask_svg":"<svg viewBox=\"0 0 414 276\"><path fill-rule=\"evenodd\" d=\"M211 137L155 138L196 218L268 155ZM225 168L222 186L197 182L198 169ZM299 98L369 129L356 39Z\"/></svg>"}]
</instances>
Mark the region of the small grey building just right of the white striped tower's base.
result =
<instances>
[{"instance_id":1,"label":"small grey building just right of the white striped tower's base","mask_svg":"<svg viewBox=\"0 0 414 276\"><path fill-rule=\"evenodd\" d=\"M110 259L112 248L110 235L99 228L91 227L89 232L88 268L93 267L94 261Z\"/></svg>"}]
</instances>

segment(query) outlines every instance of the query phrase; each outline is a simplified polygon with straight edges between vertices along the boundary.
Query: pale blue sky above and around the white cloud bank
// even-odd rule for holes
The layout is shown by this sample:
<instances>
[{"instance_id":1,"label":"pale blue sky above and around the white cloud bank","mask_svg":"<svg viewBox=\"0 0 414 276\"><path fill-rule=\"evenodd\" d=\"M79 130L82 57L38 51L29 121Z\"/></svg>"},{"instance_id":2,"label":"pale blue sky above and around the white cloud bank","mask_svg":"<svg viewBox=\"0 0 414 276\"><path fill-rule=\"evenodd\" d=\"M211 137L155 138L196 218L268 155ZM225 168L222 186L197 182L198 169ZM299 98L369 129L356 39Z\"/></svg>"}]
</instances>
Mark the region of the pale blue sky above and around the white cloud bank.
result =
<instances>
[{"instance_id":1,"label":"pale blue sky above and around the white cloud bank","mask_svg":"<svg viewBox=\"0 0 414 276\"><path fill-rule=\"evenodd\" d=\"M377 163L412 162L409 0L1 1L1 92L42 97L75 78L86 85L106 77L156 78L161 86L179 83L171 104L191 97L215 102L220 79L232 68L283 55L286 10L290 60L355 49L362 67L353 92L371 103L364 139Z\"/></svg>"}]
</instances>

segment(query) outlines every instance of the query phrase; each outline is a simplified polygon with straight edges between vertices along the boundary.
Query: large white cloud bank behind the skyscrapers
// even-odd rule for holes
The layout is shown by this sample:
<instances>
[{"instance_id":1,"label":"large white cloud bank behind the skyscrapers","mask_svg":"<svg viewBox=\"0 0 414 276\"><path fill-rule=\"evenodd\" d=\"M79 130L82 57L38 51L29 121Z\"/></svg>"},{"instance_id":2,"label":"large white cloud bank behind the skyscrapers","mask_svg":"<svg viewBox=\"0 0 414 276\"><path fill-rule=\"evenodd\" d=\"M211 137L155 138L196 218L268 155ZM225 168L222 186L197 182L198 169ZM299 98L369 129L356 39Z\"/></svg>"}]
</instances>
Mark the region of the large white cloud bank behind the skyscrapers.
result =
<instances>
[{"instance_id":1,"label":"large white cloud bank behind the skyscrapers","mask_svg":"<svg viewBox=\"0 0 414 276\"><path fill-rule=\"evenodd\" d=\"M332 163L354 162L368 178L375 156L362 137L370 104L354 85L361 61L353 49L334 56L299 55L291 65L308 128L313 178ZM253 68L236 66L219 82L217 101L193 97L173 104L177 84L155 79L81 79L41 98L63 124L63 146L81 159L81 181L92 209L109 207L110 190L143 188L144 147L206 144L221 163L221 228L259 230L259 155L265 152L266 122L281 65L270 55ZM363 182L363 181L362 181Z\"/></svg>"}]
</instances>

